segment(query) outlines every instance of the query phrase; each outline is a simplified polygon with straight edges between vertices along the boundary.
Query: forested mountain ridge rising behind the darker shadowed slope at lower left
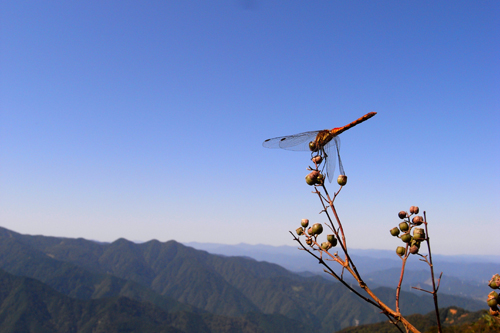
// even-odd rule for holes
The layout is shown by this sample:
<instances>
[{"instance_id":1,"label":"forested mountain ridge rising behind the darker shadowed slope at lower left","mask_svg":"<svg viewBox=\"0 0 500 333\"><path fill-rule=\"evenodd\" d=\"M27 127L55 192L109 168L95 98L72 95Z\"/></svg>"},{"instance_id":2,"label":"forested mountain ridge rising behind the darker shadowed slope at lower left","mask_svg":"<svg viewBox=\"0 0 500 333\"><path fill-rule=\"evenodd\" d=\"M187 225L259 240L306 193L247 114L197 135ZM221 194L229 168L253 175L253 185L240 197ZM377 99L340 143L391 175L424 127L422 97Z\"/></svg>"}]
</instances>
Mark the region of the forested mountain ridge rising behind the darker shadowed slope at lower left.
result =
<instances>
[{"instance_id":1,"label":"forested mountain ridge rising behind the darker shadowed slope at lower left","mask_svg":"<svg viewBox=\"0 0 500 333\"><path fill-rule=\"evenodd\" d=\"M212 255L175 241L135 244L119 239L98 244L82 239L26 236L3 229L2 243L7 244L0 245L2 268L40 279L68 295L82 295L84 291L91 297L127 295L159 305L151 294L149 299L144 297L136 287L140 285L158 297L171 297L210 313L239 317L251 312L281 315L324 332L385 319L376 308L331 280L301 277L278 265L243 257ZM30 261L35 255L37 260ZM54 266L47 268L48 265ZM75 266L77 269L69 268ZM59 274L54 276L52 272ZM72 282L65 282L66 276ZM86 282L95 276L135 283L129 288L134 291L125 294L126 283ZM378 288L374 292L387 304L394 304L394 289ZM405 315L433 309L432 300L425 294L403 292L401 298ZM485 307L483 302L445 294L440 295L439 302L443 307Z\"/></svg>"}]
</instances>

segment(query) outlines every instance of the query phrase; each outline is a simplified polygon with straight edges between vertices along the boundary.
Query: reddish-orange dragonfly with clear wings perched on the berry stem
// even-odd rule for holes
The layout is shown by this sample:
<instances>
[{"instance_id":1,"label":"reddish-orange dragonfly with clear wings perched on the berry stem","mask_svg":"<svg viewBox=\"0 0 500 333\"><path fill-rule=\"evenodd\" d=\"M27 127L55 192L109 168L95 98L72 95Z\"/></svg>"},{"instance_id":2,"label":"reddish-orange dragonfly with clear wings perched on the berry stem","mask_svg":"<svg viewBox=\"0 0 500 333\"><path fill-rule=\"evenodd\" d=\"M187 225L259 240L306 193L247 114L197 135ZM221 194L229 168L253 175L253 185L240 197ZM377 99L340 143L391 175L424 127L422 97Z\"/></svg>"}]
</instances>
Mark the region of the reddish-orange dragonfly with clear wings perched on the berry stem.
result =
<instances>
[{"instance_id":1,"label":"reddish-orange dragonfly with clear wings perched on the berry stem","mask_svg":"<svg viewBox=\"0 0 500 333\"><path fill-rule=\"evenodd\" d=\"M262 143L266 148L282 148L295 151L311 151L311 155L318 154L323 157L324 165L326 166L326 174L330 183L335 172L335 160L338 158L339 171L345 175L342 161L340 160L340 138L339 135L354 126L370 119L376 112L369 112L363 117L342 126L331 130L325 129L320 131L303 132L294 135L278 136L276 138L267 139ZM332 151L334 153L332 154Z\"/></svg>"}]
</instances>

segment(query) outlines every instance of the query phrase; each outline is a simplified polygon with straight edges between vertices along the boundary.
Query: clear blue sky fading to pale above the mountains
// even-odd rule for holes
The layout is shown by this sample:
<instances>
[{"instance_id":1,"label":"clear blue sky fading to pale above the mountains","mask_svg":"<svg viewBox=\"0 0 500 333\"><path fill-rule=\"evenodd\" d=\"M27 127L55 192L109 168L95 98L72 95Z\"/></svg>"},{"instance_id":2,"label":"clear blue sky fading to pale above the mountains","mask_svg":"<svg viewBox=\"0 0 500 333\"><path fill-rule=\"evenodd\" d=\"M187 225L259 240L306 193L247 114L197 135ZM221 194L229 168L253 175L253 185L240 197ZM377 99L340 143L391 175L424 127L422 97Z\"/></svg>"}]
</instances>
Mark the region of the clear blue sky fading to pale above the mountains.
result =
<instances>
[{"instance_id":1,"label":"clear blue sky fading to pale above the mountains","mask_svg":"<svg viewBox=\"0 0 500 333\"><path fill-rule=\"evenodd\" d=\"M325 222L309 154L332 128L348 244L500 235L498 1L2 1L0 224L21 233L293 245ZM333 190L333 186L331 189Z\"/></svg>"}]
</instances>

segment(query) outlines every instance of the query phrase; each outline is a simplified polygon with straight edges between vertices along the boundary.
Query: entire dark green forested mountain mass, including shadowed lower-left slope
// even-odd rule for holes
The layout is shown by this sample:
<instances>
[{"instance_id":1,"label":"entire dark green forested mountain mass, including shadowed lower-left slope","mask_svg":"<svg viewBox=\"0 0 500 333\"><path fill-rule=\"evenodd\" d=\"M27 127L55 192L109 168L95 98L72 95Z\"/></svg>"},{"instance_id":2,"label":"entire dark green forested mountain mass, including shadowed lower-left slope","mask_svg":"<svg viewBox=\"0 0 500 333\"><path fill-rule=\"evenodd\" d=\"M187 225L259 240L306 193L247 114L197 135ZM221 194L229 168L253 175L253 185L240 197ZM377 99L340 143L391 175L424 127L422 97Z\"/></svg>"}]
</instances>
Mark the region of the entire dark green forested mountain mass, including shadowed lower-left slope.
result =
<instances>
[{"instance_id":1,"label":"entire dark green forested mountain mass, including shadowed lower-left slope","mask_svg":"<svg viewBox=\"0 0 500 333\"><path fill-rule=\"evenodd\" d=\"M175 241L97 243L0 228L0 269L2 332L26 325L47 332L332 332L385 320L339 283ZM375 292L393 302L394 288ZM401 297L404 314L432 310L427 295ZM486 308L441 294L440 306L451 305Z\"/></svg>"}]
</instances>

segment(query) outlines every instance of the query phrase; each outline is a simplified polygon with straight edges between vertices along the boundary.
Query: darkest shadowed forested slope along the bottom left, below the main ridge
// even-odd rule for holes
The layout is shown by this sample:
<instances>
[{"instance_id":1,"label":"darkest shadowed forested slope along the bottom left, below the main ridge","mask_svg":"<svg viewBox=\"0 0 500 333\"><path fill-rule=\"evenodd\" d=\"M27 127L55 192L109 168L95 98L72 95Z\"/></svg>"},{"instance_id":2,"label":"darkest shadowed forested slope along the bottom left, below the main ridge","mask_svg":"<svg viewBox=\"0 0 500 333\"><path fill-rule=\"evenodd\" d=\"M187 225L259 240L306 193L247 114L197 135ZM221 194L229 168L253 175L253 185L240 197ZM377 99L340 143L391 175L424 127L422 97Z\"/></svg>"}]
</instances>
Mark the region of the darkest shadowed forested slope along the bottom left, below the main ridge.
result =
<instances>
[{"instance_id":1,"label":"darkest shadowed forested slope along the bottom left, below the main ridge","mask_svg":"<svg viewBox=\"0 0 500 333\"><path fill-rule=\"evenodd\" d=\"M0 270L0 332L304 332L280 316L228 318L187 311L169 313L127 297L79 300L30 278Z\"/></svg>"}]
</instances>

